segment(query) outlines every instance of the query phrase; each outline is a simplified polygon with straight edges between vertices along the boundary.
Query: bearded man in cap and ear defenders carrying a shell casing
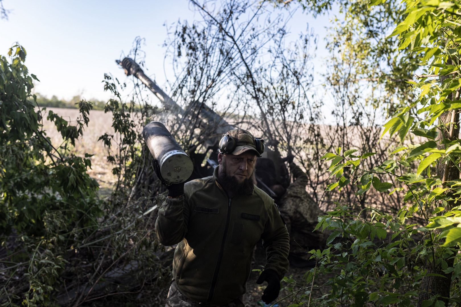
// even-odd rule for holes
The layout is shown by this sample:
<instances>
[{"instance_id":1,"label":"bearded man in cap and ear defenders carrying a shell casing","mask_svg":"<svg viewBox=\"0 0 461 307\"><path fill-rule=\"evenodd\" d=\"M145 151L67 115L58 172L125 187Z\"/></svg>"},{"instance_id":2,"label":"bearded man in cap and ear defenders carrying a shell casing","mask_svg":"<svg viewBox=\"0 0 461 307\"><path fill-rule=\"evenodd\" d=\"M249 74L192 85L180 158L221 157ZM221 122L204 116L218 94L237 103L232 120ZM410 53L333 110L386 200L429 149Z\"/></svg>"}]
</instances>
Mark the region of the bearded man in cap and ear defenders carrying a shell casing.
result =
<instances>
[{"instance_id":1,"label":"bearded man in cap and ear defenders carrying a shell casing","mask_svg":"<svg viewBox=\"0 0 461 307\"><path fill-rule=\"evenodd\" d=\"M274 201L254 185L256 158L264 141L243 129L219 142L213 176L167 185L155 232L160 243L178 243L166 307L242 307L254 246L263 239L267 282L262 300L274 301L288 269L290 240Z\"/></svg>"}]
</instances>

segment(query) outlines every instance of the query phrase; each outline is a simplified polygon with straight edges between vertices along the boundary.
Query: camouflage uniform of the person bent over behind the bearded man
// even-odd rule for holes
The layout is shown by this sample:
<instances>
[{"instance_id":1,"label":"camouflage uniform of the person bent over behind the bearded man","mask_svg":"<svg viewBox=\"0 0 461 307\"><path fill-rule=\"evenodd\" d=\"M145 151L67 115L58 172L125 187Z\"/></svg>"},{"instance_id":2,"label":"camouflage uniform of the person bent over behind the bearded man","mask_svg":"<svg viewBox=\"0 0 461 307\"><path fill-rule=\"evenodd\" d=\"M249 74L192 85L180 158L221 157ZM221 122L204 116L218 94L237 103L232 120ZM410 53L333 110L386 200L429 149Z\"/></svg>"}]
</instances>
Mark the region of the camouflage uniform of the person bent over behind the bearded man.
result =
<instances>
[{"instance_id":1,"label":"camouflage uniform of the person bent over behind the bearded man","mask_svg":"<svg viewBox=\"0 0 461 307\"><path fill-rule=\"evenodd\" d=\"M295 163L290 163L294 182L280 200L280 209L290 233L289 259L308 260L310 249L323 249L324 235L318 230L317 218L322 214L319 206L306 191L307 175Z\"/></svg>"}]
</instances>

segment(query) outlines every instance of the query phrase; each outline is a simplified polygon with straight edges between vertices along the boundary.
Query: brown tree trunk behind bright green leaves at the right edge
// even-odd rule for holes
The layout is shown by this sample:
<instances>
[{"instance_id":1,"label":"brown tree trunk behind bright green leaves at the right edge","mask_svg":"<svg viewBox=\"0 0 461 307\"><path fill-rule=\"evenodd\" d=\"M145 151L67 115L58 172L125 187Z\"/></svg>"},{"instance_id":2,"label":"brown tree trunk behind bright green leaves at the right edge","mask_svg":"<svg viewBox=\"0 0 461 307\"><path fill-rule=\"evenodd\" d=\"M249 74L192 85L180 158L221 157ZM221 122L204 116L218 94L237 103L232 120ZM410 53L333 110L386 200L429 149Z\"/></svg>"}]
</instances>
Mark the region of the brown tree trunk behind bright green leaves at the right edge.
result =
<instances>
[{"instance_id":1,"label":"brown tree trunk behind bright green leaves at the right edge","mask_svg":"<svg viewBox=\"0 0 461 307\"><path fill-rule=\"evenodd\" d=\"M457 90L455 93L455 99L459 99L460 91ZM450 95L452 96L452 95ZM449 97L452 98L452 97ZM439 145L440 148L446 148L445 142L448 143L455 139L458 139L460 133L459 127L459 110L450 110L443 113L439 117L439 121L443 123L450 123L449 125L445 126L446 128L443 129L441 133L439 133ZM449 161L446 164L439 165L438 167L438 176L442 178L443 187L449 186L449 181L451 180L458 180L460 179L460 173L458 168L453 164L453 162ZM446 198L453 199L452 190L448 190L446 194ZM446 210L450 210L455 206L454 201L447 201ZM439 234L441 232L440 229L436 229L434 231L435 234ZM442 242L434 242L434 257L433 259L437 259L437 251L440 249L440 244ZM454 256L454 255L453 255ZM451 256L447 259L448 267L453 266L454 257ZM433 295L441 295L442 297L439 298L440 301L443 301L445 305L448 305L448 298L450 296L450 288L451 288L451 275L452 273L445 273L442 270L440 265L436 265L433 261L428 261L426 265L427 273L435 273L443 275L441 276L426 276L421 281L421 289L419 293L419 300L418 300L418 307L422 306L424 300L430 299Z\"/></svg>"}]
</instances>

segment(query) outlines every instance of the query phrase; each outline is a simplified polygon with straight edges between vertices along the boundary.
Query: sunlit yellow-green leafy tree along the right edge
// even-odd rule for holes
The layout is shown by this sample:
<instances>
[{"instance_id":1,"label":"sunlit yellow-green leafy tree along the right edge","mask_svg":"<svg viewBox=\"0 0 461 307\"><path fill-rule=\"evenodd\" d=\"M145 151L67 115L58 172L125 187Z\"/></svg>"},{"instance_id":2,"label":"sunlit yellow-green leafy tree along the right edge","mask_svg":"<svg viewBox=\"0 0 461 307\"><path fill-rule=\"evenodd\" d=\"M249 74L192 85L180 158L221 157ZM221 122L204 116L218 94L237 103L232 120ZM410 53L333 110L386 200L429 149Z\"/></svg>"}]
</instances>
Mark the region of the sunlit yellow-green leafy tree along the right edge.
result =
<instances>
[{"instance_id":1,"label":"sunlit yellow-green leafy tree along the right edge","mask_svg":"<svg viewBox=\"0 0 461 307\"><path fill-rule=\"evenodd\" d=\"M372 1L371 5L379 3L380 1ZM362 189L369 189L372 185L378 191L387 191L392 187L392 183L383 181L384 177L378 177L382 175L394 177L402 183L396 185L396 189L403 189L406 193L403 200L410 204L409 207L402 207L397 220L413 237L422 236L424 244L422 247L407 245L407 249L402 249L399 255L405 257L404 265L414 261L413 265L424 269L422 275L415 276L417 282L413 284L413 287L419 290L418 306L444 306L450 302L460 301L457 290L459 284L451 282L453 275L455 280L459 280L460 259L455 251L461 244L460 228L456 227L461 222L459 207L456 205L460 192L458 186L461 153L461 84L457 56L460 3L405 1L405 4L407 7L402 13L402 21L397 24L390 37L398 35L398 49L402 53L402 58L414 57L423 69L421 75L416 75L417 82L407 81L412 84L417 96L409 100L407 105L398 107L397 112L384 125L384 133L398 133L404 142L393 152L398 153L398 156L368 170L361 168L361 163L368 155L366 153L355 156L351 151L341 153L338 150L336 153L325 155L324 158L332 161L332 173L344 168L352 169L352 176L342 177L337 183L338 187L342 187L344 182L353 182L361 185ZM410 90L412 89L409 88L408 91ZM409 132L420 136L422 142L415 145L405 142ZM343 158L346 162L340 163ZM344 210L338 210L348 214ZM423 227L405 224L406 221L412 220L414 214L423 217ZM386 218L385 215L378 216ZM392 238L399 237L400 232L397 230L402 227L393 227L397 226L392 223L394 218L386 219L385 226L393 233ZM326 220L322 221L322 226L325 226L325 222ZM381 224L374 224L376 231L382 227ZM348 233L356 235L352 230ZM408 244L411 243L410 240L411 237L406 237L403 241L396 242ZM404 243L405 241L407 243ZM404 280L402 276L399 278ZM387 303L402 301L408 295L416 295L411 291L400 292L400 295L398 290L394 293L386 296ZM369 299L375 300L377 297L370 295Z\"/></svg>"}]
</instances>

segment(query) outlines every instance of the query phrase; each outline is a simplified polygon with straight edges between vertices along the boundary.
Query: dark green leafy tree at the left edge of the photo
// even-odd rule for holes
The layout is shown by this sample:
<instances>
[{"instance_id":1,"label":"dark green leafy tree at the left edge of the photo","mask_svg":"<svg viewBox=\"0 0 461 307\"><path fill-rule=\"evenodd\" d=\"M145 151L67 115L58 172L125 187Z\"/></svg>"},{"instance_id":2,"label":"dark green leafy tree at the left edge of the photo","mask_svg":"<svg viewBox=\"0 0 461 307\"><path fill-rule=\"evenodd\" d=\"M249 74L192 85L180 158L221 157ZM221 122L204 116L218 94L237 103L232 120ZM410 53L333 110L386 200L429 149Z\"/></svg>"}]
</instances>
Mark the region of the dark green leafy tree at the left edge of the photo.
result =
<instances>
[{"instance_id":1,"label":"dark green leafy tree at the left edge of the photo","mask_svg":"<svg viewBox=\"0 0 461 307\"><path fill-rule=\"evenodd\" d=\"M17 44L8 55L11 61L0 57L0 234L6 253L0 293L12 301L25 283L22 298L35 306L46 304L58 284L67 244L81 240L101 213L98 185L86 173L91 162L69 153L88 123L91 103L79 103L76 126L48 112L65 140L54 147L42 129L45 109L35 109L31 89L38 79L24 65L26 51ZM13 278L24 267L22 278Z\"/></svg>"}]
</instances>

